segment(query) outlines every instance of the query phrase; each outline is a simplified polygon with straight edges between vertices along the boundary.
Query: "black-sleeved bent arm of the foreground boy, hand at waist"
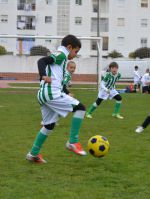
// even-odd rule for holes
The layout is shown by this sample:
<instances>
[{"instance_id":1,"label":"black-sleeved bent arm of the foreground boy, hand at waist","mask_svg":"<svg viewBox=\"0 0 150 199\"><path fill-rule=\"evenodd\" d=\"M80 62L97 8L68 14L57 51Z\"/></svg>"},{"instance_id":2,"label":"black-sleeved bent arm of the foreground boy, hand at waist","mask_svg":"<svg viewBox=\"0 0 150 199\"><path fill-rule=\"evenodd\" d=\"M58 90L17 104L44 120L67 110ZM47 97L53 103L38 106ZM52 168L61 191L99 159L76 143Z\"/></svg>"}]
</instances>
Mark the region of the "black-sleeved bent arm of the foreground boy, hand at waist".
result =
<instances>
[{"instance_id":1,"label":"black-sleeved bent arm of the foreground boy, hand at waist","mask_svg":"<svg viewBox=\"0 0 150 199\"><path fill-rule=\"evenodd\" d=\"M51 56L48 57L42 57L41 59L38 60L38 70L39 70L39 75L40 75L40 80L46 80L48 77L46 76L46 67L49 64L54 63L54 58Z\"/></svg>"}]
</instances>

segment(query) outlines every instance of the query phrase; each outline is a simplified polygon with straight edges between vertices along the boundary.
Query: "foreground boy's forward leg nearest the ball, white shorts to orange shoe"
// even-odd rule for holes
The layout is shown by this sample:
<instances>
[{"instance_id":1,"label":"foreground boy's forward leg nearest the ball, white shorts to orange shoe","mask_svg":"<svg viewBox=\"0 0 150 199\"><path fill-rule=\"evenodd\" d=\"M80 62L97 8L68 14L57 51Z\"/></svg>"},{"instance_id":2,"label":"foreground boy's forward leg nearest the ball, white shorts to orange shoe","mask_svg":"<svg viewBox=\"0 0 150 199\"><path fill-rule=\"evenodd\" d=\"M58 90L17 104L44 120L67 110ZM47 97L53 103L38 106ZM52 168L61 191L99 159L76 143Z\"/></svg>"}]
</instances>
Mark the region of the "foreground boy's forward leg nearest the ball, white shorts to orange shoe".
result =
<instances>
[{"instance_id":1,"label":"foreground boy's forward leg nearest the ball, white shorts to orange shoe","mask_svg":"<svg viewBox=\"0 0 150 199\"><path fill-rule=\"evenodd\" d=\"M63 94L61 97L53 99L50 106L57 115L62 117L66 117L69 112L74 112L70 128L70 139L66 147L78 155L86 155L86 152L79 143L79 132L85 115L84 105L77 99Z\"/></svg>"}]
</instances>

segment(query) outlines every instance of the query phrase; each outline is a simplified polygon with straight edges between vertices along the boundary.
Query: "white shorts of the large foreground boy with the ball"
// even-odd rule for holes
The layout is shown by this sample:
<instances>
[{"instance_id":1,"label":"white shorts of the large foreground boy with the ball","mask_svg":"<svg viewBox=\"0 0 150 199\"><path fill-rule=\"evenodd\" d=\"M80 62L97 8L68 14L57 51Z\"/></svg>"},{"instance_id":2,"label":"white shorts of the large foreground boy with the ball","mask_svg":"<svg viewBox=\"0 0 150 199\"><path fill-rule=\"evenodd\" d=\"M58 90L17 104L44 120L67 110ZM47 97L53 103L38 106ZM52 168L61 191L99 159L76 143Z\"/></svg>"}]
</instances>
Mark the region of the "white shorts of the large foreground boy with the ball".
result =
<instances>
[{"instance_id":1,"label":"white shorts of the large foreground boy with the ball","mask_svg":"<svg viewBox=\"0 0 150 199\"><path fill-rule=\"evenodd\" d=\"M73 111L73 106L79 104L79 101L65 93L62 96L50 100L41 106L42 119L44 124L55 123L59 117L66 117Z\"/></svg>"}]
</instances>

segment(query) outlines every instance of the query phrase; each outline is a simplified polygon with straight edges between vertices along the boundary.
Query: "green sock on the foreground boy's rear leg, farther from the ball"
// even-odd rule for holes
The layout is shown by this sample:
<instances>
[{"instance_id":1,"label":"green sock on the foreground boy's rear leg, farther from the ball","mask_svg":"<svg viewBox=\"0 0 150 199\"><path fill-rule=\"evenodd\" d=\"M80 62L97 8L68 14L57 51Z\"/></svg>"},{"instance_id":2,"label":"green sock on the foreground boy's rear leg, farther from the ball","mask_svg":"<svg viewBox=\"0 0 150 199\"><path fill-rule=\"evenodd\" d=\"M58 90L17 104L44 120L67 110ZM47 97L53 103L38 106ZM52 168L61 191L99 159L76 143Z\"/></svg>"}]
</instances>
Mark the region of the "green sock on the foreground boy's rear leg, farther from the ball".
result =
<instances>
[{"instance_id":1,"label":"green sock on the foreground boy's rear leg, farther from the ball","mask_svg":"<svg viewBox=\"0 0 150 199\"><path fill-rule=\"evenodd\" d=\"M31 149L32 155L36 156L39 154L40 149L47 137L48 137L47 135L45 135L39 131L39 133L37 134L35 141L33 143L32 149Z\"/></svg>"}]
</instances>

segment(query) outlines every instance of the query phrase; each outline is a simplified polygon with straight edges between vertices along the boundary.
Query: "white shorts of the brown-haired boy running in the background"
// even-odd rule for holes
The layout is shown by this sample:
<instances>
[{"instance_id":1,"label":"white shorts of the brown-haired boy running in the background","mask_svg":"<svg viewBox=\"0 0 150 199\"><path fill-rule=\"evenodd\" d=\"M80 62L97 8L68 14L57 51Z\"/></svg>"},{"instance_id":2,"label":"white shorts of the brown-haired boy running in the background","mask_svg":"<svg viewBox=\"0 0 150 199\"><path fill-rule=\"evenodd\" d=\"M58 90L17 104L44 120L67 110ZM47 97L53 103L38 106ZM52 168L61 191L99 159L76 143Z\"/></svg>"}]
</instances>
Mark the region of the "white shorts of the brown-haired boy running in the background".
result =
<instances>
[{"instance_id":1,"label":"white shorts of the brown-haired boy running in the background","mask_svg":"<svg viewBox=\"0 0 150 199\"><path fill-rule=\"evenodd\" d=\"M112 99L115 95L118 95L119 93L115 89L111 89L110 93L107 93L105 90L100 89L98 93L98 98L101 98L103 100Z\"/></svg>"}]
</instances>

